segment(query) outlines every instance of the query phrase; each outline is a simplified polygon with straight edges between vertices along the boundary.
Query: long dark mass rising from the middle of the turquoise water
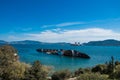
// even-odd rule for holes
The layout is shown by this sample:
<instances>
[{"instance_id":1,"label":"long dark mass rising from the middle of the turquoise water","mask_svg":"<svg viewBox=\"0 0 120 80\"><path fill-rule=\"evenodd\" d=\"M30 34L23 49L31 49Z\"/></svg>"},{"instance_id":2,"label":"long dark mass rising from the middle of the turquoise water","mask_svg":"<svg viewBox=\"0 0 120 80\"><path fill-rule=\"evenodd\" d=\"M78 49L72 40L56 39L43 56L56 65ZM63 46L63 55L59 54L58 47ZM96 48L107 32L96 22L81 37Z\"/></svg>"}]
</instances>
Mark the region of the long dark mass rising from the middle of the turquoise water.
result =
<instances>
[{"instance_id":1,"label":"long dark mass rising from the middle of the turquoise water","mask_svg":"<svg viewBox=\"0 0 120 80\"><path fill-rule=\"evenodd\" d=\"M76 51L76 50L63 50L63 49L37 49L37 52L46 53L46 54L53 54L53 55L62 55L68 57L80 57L80 58L87 58L88 56L85 53Z\"/></svg>"}]
</instances>

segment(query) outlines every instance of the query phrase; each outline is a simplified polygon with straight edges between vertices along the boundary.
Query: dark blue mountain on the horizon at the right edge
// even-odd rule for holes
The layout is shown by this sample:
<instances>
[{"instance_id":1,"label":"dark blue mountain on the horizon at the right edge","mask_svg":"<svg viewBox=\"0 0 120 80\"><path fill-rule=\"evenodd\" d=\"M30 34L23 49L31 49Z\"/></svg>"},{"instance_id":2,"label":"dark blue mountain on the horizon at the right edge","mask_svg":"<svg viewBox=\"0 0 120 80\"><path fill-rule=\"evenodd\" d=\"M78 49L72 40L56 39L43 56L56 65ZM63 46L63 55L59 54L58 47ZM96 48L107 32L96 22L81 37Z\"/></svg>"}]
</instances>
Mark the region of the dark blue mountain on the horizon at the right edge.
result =
<instances>
[{"instance_id":1,"label":"dark blue mountain on the horizon at the right edge","mask_svg":"<svg viewBox=\"0 0 120 80\"><path fill-rule=\"evenodd\" d=\"M120 41L114 39L108 39L103 41L90 41L83 43L85 46L120 46Z\"/></svg>"}]
</instances>

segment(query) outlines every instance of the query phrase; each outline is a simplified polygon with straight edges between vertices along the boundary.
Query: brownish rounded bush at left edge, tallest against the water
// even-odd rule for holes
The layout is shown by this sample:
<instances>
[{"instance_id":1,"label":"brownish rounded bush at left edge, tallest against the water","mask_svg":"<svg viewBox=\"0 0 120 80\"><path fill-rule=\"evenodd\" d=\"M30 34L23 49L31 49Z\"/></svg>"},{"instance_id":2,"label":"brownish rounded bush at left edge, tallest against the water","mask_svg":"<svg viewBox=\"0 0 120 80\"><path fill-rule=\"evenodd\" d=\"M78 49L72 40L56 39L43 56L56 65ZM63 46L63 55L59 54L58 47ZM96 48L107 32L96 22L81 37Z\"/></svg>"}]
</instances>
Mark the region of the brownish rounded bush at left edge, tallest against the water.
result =
<instances>
[{"instance_id":1,"label":"brownish rounded bush at left edge, tallest against the water","mask_svg":"<svg viewBox=\"0 0 120 80\"><path fill-rule=\"evenodd\" d=\"M0 47L0 66L8 66L17 60L18 56L16 49L9 45Z\"/></svg>"}]
</instances>

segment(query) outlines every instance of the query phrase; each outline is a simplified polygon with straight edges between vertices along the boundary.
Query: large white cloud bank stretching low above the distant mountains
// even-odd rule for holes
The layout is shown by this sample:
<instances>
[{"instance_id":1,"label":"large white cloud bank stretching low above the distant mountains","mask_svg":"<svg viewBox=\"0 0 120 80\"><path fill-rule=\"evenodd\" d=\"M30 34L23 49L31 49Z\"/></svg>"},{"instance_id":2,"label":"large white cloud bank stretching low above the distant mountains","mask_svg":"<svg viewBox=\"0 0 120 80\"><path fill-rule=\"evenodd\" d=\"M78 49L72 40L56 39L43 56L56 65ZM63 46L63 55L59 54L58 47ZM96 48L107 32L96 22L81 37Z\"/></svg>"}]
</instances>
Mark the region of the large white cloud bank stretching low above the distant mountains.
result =
<instances>
[{"instance_id":1,"label":"large white cloud bank stretching low above the distant mountains","mask_svg":"<svg viewBox=\"0 0 120 80\"><path fill-rule=\"evenodd\" d=\"M38 40L42 42L88 42L105 39L120 40L119 37L120 33L102 28L66 30L60 32L47 30L38 34L26 34L27 39Z\"/></svg>"}]
</instances>

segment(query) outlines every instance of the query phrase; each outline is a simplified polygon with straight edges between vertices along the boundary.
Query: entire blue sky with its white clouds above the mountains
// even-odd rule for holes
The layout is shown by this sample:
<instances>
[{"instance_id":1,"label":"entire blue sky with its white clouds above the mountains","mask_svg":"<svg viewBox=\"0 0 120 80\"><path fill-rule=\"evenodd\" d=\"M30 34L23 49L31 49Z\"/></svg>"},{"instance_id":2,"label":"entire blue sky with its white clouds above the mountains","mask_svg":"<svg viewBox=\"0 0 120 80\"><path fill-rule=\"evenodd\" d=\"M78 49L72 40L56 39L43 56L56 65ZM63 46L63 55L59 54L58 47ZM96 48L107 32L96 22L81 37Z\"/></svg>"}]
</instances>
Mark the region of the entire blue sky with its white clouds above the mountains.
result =
<instances>
[{"instance_id":1,"label":"entire blue sky with its white clouds above the mountains","mask_svg":"<svg viewBox=\"0 0 120 80\"><path fill-rule=\"evenodd\" d=\"M120 0L0 0L0 39L120 40Z\"/></svg>"}]
</instances>

